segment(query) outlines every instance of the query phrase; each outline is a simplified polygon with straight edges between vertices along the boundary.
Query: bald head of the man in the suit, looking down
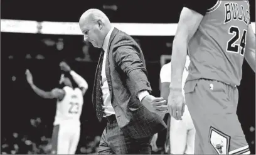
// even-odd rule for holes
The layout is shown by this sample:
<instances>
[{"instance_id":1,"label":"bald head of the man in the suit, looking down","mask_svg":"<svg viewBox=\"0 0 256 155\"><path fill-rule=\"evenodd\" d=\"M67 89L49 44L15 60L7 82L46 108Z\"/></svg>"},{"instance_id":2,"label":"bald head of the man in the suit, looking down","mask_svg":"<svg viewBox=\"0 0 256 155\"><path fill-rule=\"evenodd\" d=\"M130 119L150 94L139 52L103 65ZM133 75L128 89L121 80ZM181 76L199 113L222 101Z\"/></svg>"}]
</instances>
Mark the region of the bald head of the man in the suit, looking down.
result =
<instances>
[{"instance_id":1,"label":"bald head of the man in the suit, looking down","mask_svg":"<svg viewBox=\"0 0 256 155\"><path fill-rule=\"evenodd\" d=\"M88 9L79 19L79 26L84 40L90 41L94 47L101 48L105 36L111 29L109 18L99 9Z\"/></svg>"}]
</instances>

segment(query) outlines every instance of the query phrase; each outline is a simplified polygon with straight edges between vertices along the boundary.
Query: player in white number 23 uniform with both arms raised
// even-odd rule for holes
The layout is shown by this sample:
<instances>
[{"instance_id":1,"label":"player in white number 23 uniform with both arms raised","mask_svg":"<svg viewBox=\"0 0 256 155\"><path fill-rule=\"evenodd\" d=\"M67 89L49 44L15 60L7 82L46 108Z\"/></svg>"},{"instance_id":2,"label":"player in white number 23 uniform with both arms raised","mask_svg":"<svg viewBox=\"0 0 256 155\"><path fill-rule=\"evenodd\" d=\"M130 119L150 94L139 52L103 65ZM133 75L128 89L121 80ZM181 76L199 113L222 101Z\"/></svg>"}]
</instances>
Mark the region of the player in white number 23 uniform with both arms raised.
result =
<instances>
[{"instance_id":1,"label":"player in white number 23 uniform with both arms raised","mask_svg":"<svg viewBox=\"0 0 256 155\"><path fill-rule=\"evenodd\" d=\"M65 71L65 74L61 74L60 79L62 89L55 88L49 92L39 89L33 84L33 77L28 69L26 70L26 78L36 94L42 98L57 99L51 153L75 154L80 139L83 95L88 89L88 84L75 71L71 71L68 64L61 62L60 68Z\"/></svg>"}]
</instances>

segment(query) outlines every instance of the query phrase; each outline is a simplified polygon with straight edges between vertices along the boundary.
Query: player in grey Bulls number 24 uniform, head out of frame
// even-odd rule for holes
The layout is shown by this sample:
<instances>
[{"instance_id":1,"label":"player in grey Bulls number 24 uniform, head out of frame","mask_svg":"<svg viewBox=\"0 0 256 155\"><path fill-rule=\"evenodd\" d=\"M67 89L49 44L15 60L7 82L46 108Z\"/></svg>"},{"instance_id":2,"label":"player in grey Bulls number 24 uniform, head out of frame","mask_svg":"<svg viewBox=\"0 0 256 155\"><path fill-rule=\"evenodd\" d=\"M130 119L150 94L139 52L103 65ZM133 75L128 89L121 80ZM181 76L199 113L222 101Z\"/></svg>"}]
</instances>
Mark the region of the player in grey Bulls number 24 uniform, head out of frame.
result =
<instances>
[{"instance_id":1,"label":"player in grey Bulls number 24 uniform, head out of frame","mask_svg":"<svg viewBox=\"0 0 256 155\"><path fill-rule=\"evenodd\" d=\"M175 119L184 111L181 79L187 49L191 63L184 92L196 128L195 154L250 154L237 117L244 57L255 72L248 1L185 4L173 41L168 108Z\"/></svg>"}]
</instances>

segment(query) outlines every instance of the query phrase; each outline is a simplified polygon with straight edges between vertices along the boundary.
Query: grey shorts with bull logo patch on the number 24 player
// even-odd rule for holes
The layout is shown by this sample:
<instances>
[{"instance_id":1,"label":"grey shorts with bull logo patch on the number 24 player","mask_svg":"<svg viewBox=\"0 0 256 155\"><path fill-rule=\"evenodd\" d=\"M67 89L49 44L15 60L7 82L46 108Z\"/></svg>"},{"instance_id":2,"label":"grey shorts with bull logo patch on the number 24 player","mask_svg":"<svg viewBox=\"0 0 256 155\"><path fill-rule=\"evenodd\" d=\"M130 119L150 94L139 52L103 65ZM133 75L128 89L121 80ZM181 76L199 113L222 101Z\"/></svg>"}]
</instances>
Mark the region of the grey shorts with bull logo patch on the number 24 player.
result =
<instances>
[{"instance_id":1,"label":"grey shorts with bull logo patch on the number 24 player","mask_svg":"<svg viewBox=\"0 0 256 155\"><path fill-rule=\"evenodd\" d=\"M250 154L237 117L237 87L198 79L187 81L184 91L196 128L195 154Z\"/></svg>"}]
</instances>

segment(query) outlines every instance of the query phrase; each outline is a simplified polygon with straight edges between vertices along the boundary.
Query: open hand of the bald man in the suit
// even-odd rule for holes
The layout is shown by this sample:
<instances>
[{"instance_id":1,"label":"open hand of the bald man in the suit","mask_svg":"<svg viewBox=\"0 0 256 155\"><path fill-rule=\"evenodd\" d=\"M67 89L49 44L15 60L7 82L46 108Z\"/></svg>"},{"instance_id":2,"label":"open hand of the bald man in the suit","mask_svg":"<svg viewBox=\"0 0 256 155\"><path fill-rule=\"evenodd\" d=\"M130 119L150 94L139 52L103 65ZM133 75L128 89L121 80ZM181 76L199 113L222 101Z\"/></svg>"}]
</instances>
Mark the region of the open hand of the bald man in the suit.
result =
<instances>
[{"instance_id":1,"label":"open hand of the bald man in the suit","mask_svg":"<svg viewBox=\"0 0 256 155\"><path fill-rule=\"evenodd\" d=\"M152 95L147 95L141 101L141 103L152 113L157 113L159 116L163 116L168 113L167 102L164 98L155 98Z\"/></svg>"}]
</instances>

